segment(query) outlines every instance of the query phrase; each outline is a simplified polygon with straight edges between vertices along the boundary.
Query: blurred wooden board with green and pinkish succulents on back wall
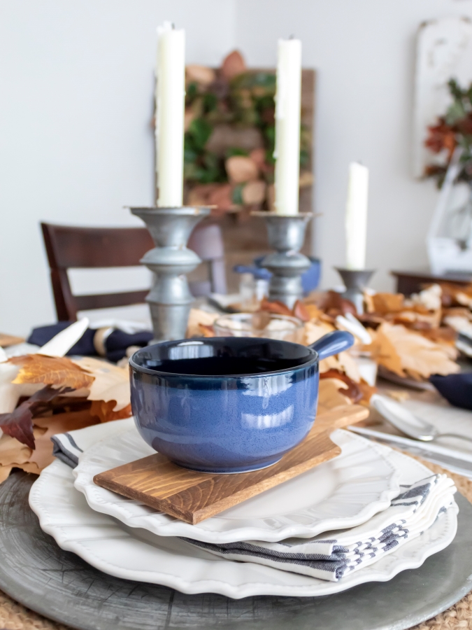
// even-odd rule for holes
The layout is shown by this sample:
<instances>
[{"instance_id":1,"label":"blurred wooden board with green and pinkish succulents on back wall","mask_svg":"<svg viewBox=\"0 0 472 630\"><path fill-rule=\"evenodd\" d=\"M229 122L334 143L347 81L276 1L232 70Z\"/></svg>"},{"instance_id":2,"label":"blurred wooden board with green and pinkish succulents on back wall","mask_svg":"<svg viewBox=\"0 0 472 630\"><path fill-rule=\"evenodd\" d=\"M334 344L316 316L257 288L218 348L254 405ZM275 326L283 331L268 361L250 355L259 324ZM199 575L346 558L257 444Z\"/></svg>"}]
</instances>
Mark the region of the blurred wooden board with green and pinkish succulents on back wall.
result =
<instances>
[{"instance_id":1,"label":"blurred wooden board with green and pinkish succulents on back wall","mask_svg":"<svg viewBox=\"0 0 472 630\"><path fill-rule=\"evenodd\" d=\"M253 265L258 255L269 253L264 221L250 213L273 210L276 70L250 69L241 52L234 50L217 69L187 66L186 92L184 203L213 207L212 216L202 222L201 230L218 224L224 244L227 290L235 293L240 278L234 266ZM314 109L315 71L304 69L301 212L310 212L313 204ZM310 240L308 234L303 253L310 253ZM206 265L189 274L189 281L194 287L208 282Z\"/></svg>"}]
</instances>

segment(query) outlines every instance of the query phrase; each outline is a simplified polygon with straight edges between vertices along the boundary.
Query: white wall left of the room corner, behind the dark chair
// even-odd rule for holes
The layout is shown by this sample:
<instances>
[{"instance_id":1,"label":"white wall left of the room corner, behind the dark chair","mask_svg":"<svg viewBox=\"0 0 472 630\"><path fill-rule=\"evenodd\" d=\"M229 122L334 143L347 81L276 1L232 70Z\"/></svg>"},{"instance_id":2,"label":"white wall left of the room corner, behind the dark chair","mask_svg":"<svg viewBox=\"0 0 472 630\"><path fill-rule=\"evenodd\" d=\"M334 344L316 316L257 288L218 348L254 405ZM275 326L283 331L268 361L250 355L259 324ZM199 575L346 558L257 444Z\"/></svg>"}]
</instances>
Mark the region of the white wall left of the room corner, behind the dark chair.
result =
<instances>
[{"instance_id":1,"label":"white wall left of the room corner, behind the dark chair","mask_svg":"<svg viewBox=\"0 0 472 630\"><path fill-rule=\"evenodd\" d=\"M140 225L153 202L156 27L187 60L234 47L232 0L0 3L0 330L55 321L38 223Z\"/></svg>"}]
</instances>

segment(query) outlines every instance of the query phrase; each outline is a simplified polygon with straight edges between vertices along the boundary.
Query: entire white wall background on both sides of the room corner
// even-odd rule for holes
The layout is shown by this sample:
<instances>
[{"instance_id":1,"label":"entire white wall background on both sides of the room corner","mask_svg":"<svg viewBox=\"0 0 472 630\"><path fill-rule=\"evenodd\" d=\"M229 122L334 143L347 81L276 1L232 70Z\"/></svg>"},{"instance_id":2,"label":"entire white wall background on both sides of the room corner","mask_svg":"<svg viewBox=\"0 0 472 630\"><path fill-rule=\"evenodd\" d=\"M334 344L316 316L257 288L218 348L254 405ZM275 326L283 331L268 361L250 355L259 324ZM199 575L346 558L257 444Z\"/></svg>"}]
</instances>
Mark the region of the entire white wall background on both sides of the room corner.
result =
<instances>
[{"instance_id":1,"label":"entire white wall background on both sides of the room corner","mask_svg":"<svg viewBox=\"0 0 472 630\"><path fill-rule=\"evenodd\" d=\"M315 250L324 286L343 265L347 169L371 169L373 286L427 264L436 200L410 175L415 33L472 16L457 0L3 0L0 3L0 330L55 320L39 221L137 225L152 203L155 29L187 30L187 60L218 64L238 45L273 66L276 41L303 40L318 70Z\"/></svg>"}]
</instances>

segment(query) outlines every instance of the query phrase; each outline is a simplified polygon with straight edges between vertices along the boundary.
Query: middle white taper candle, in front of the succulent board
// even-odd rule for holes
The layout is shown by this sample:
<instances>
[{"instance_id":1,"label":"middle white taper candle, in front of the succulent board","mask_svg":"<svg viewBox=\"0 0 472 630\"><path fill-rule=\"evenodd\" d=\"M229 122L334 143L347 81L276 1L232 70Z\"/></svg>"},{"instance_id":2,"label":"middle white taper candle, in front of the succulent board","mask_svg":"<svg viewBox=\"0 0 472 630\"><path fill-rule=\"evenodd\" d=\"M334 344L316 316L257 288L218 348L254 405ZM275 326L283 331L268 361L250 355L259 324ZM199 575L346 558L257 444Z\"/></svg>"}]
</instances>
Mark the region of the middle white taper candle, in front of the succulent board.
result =
<instances>
[{"instance_id":1,"label":"middle white taper candle, in front of the succulent board","mask_svg":"<svg viewBox=\"0 0 472 630\"><path fill-rule=\"evenodd\" d=\"M276 90L276 172L277 214L299 211L301 109L301 41L278 41Z\"/></svg>"}]
</instances>

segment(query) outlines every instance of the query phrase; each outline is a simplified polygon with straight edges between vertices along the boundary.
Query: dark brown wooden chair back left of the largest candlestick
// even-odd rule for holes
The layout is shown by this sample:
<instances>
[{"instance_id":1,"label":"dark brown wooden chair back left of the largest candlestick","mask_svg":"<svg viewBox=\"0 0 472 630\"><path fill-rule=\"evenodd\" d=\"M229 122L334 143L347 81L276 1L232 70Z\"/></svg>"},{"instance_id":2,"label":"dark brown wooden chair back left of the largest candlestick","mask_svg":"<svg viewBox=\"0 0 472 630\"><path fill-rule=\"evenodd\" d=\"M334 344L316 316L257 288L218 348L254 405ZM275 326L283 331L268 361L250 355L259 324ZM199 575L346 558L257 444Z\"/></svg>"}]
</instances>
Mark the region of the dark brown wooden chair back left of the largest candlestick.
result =
<instances>
[{"instance_id":1,"label":"dark brown wooden chair back left of the largest candlestick","mask_svg":"<svg viewBox=\"0 0 472 630\"><path fill-rule=\"evenodd\" d=\"M146 228L75 228L41 223L58 321L76 321L77 311L140 304L148 290L73 295L67 269L135 267L154 247Z\"/></svg>"}]
</instances>

